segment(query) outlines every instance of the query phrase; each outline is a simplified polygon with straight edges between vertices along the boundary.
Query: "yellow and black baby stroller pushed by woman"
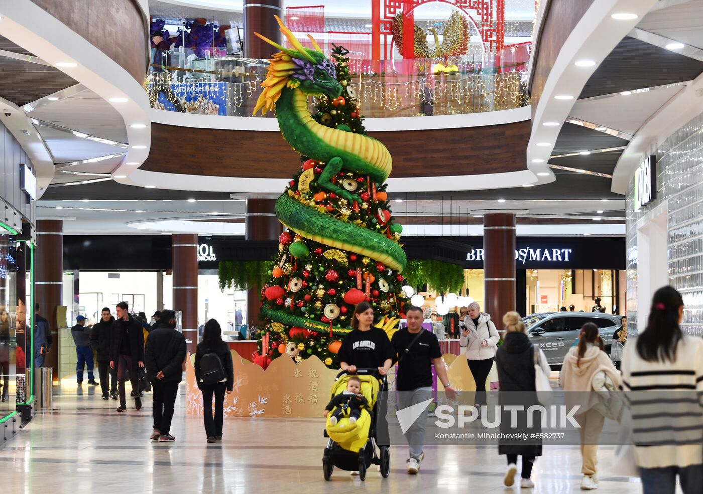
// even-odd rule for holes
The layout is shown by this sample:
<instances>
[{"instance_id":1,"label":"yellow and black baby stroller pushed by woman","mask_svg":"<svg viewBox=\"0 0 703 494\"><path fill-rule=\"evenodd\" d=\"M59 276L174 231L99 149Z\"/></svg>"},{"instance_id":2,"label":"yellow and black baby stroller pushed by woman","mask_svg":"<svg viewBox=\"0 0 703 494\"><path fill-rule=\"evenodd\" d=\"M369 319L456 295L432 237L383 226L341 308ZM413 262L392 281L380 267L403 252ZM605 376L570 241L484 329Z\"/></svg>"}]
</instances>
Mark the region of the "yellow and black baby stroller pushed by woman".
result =
<instances>
[{"instance_id":1,"label":"yellow and black baby stroller pushed by woman","mask_svg":"<svg viewBox=\"0 0 703 494\"><path fill-rule=\"evenodd\" d=\"M351 375L342 370L335 378L331 396L344 392ZM381 475L386 478L390 474L390 453L388 446L378 447L376 425L378 413L385 413L382 406L386 389L385 376L379 375L376 369L357 369L356 377L361 380L361 394L366 397L370 410L361 409L361 416L354 423L349 423L348 415L342 416L335 424L330 424L332 413L328 415L324 436L330 438L322 457L322 469L325 480L330 480L335 467L347 471L359 471L359 479L366 479L366 469L371 465L380 465ZM332 410L334 412L334 410ZM385 420L382 421L385 423Z\"/></svg>"}]
</instances>

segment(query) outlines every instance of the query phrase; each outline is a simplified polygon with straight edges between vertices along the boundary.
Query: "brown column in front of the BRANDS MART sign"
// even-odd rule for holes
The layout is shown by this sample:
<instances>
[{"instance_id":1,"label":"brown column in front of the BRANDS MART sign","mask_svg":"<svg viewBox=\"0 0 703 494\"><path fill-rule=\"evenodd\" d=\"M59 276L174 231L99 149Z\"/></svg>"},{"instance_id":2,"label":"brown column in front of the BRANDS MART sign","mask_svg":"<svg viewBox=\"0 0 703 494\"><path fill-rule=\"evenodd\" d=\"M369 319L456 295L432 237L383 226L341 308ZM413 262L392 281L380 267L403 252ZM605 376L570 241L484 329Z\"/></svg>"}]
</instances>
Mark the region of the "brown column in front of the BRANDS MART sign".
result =
<instances>
[{"instance_id":1,"label":"brown column in front of the BRANDS MART sign","mask_svg":"<svg viewBox=\"0 0 703 494\"><path fill-rule=\"evenodd\" d=\"M517 303L512 213L484 215L484 299L485 311L491 314L498 331L503 331L503 314L515 310Z\"/></svg>"}]
</instances>

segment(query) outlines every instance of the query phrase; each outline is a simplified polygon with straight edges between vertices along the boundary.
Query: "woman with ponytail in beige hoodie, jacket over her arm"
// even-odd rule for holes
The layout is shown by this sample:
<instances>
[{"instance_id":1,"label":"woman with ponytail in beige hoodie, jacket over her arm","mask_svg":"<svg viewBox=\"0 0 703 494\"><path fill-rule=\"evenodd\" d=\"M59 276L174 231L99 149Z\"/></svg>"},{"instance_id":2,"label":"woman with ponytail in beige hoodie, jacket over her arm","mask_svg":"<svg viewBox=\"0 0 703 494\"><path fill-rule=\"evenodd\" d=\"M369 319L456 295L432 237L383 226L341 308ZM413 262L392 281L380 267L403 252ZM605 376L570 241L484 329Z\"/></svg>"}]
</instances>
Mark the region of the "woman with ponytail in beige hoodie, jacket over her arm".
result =
<instances>
[{"instance_id":1,"label":"woman with ponytail in beige hoodie, jacket over her arm","mask_svg":"<svg viewBox=\"0 0 703 494\"><path fill-rule=\"evenodd\" d=\"M579 345L571 347L560 374L567 410L578 405L581 434L581 490L598 488L595 465L598 462L598 437L605 418L619 419L622 403L614 393L620 386L620 373L603 351L595 323L586 323L579 333Z\"/></svg>"}]
</instances>

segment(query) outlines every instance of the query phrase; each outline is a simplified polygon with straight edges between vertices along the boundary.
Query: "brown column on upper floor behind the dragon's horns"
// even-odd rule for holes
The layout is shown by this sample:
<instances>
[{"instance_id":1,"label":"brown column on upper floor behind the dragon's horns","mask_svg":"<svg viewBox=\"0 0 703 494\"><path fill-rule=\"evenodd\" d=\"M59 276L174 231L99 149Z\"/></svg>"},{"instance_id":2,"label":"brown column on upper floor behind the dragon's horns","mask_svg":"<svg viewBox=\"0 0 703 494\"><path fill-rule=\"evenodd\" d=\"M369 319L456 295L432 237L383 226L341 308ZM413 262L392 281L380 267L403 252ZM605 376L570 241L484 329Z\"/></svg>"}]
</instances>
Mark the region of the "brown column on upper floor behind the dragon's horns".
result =
<instances>
[{"instance_id":1,"label":"brown column on upper floor behind the dragon's horns","mask_svg":"<svg viewBox=\"0 0 703 494\"><path fill-rule=\"evenodd\" d=\"M269 58L278 50L254 32L283 44L274 15L283 20L283 0L244 0L244 58Z\"/></svg>"}]
</instances>

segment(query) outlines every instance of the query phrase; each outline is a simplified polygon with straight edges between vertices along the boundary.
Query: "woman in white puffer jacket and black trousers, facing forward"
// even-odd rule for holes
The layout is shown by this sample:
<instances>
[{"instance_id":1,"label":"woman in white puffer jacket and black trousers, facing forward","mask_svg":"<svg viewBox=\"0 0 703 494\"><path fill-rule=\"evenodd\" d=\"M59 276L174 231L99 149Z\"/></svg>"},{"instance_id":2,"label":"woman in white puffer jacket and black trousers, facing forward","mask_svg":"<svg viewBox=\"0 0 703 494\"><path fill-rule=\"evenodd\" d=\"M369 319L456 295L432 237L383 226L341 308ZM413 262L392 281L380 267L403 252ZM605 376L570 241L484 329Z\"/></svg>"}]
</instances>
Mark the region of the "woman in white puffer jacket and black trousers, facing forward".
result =
<instances>
[{"instance_id":1,"label":"woman in white puffer jacket and black trousers, facing forward","mask_svg":"<svg viewBox=\"0 0 703 494\"><path fill-rule=\"evenodd\" d=\"M486 379L493 367L496 345L501 337L489 314L481 312L477 302L472 302L464 317L459 345L466 347L466 359L476 382L476 408L486 405ZM480 410L480 408L479 408Z\"/></svg>"}]
</instances>

